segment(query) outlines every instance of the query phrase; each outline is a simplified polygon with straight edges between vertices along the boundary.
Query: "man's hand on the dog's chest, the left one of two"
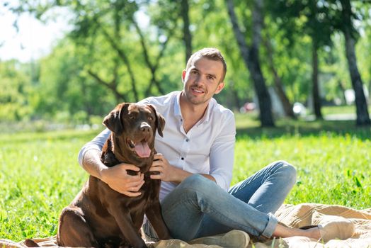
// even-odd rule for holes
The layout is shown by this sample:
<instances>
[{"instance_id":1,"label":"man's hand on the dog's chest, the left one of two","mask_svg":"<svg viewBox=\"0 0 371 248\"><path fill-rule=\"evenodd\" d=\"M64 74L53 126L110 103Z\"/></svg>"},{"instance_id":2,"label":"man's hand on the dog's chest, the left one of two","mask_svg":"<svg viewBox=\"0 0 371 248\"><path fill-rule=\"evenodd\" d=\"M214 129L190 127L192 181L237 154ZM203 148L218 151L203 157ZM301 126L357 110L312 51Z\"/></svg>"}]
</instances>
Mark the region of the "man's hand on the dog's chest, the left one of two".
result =
<instances>
[{"instance_id":1,"label":"man's hand on the dog's chest, the left one of two","mask_svg":"<svg viewBox=\"0 0 371 248\"><path fill-rule=\"evenodd\" d=\"M127 170L138 171L138 174L131 176ZM114 191L125 196L139 196L139 189L144 184L144 174L139 172L139 167L133 164L118 164L114 167L106 167L101 171L101 180L104 181Z\"/></svg>"}]
</instances>

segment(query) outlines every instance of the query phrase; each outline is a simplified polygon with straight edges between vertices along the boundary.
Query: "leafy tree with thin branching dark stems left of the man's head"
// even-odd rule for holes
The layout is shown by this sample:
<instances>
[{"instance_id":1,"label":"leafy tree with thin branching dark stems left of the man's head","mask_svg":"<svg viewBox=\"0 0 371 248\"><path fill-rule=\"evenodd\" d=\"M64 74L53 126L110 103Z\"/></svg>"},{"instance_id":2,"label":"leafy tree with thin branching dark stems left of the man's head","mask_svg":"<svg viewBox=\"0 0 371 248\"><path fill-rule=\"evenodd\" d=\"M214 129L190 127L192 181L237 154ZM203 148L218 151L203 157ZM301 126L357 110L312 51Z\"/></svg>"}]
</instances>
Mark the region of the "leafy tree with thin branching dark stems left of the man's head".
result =
<instances>
[{"instance_id":1,"label":"leafy tree with thin branching dark stems left of the man's head","mask_svg":"<svg viewBox=\"0 0 371 248\"><path fill-rule=\"evenodd\" d=\"M86 64L86 72L96 83L112 91L120 102L139 101L151 94L165 93L164 83L159 79L159 64L176 30L179 11L167 14L162 23L141 26L137 14L156 4L130 0L23 0L13 11L28 11L42 18L50 9L68 8L74 26L69 37L79 47L89 47L86 52L90 53L91 60ZM138 71L141 73L137 74Z\"/></svg>"}]
</instances>

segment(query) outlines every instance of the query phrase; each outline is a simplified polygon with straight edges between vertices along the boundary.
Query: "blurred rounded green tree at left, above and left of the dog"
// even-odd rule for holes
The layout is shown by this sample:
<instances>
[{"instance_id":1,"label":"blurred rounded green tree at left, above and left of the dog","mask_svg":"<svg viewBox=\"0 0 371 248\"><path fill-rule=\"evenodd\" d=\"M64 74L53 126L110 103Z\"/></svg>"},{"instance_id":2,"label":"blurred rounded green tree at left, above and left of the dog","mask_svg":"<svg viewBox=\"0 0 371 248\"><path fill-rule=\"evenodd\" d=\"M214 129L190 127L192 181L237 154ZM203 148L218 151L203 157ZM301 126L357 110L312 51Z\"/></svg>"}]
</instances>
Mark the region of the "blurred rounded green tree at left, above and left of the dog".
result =
<instances>
[{"instance_id":1,"label":"blurred rounded green tree at left, above and left of the dog","mask_svg":"<svg viewBox=\"0 0 371 248\"><path fill-rule=\"evenodd\" d=\"M86 74L87 63L83 50L70 40L62 40L52 53L40 61L40 89L34 97L35 115L48 114L51 118L66 123L90 123L90 115L101 115L115 105L105 95L105 87ZM81 113L84 112L84 113ZM62 116L65 116L61 118ZM81 118L85 115L85 118Z\"/></svg>"}]
</instances>

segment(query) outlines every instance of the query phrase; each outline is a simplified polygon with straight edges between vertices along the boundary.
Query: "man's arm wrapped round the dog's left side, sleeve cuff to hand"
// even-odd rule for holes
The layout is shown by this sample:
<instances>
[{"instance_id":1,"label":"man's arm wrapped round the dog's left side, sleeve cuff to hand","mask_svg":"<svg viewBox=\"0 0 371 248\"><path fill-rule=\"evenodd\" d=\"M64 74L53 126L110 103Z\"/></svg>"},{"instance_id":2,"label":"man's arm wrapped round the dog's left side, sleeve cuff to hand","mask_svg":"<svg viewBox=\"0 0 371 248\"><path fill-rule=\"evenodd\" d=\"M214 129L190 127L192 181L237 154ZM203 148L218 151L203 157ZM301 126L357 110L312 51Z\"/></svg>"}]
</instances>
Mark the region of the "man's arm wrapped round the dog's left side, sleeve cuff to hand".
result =
<instances>
[{"instance_id":1,"label":"man's arm wrapped round the dog's left side, sleeve cuff to hand","mask_svg":"<svg viewBox=\"0 0 371 248\"><path fill-rule=\"evenodd\" d=\"M139 171L132 164L118 164L115 167L106 167L101 162L101 149L107 140L109 130L104 130L88 142L79 152L79 163L91 176L104 181L110 188L126 196L139 196L139 189L144 184L144 175L130 176L127 170Z\"/></svg>"}]
</instances>

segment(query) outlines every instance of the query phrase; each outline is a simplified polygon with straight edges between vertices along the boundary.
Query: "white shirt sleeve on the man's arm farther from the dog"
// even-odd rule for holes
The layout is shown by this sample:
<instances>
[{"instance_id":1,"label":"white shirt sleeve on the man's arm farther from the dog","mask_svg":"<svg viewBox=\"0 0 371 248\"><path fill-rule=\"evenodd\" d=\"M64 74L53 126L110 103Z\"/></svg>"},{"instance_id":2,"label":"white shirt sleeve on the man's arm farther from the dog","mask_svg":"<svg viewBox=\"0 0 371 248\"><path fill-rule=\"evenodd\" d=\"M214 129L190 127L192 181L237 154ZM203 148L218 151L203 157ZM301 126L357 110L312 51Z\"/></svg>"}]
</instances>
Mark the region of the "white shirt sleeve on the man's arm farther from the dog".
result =
<instances>
[{"instance_id":1,"label":"white shirt sleeve on the man's arm farther from the dog","mask_svg":"<svg viewBox=\"0 0 371 248\"><path fill-rule=\"evenodd\" d=\"M221 127L221 132L210 150L210 175L215 178L217 185L227 191L232 181L236 142L236 124L233 113L222 121Z\"/></svg>"}]
</instances>

